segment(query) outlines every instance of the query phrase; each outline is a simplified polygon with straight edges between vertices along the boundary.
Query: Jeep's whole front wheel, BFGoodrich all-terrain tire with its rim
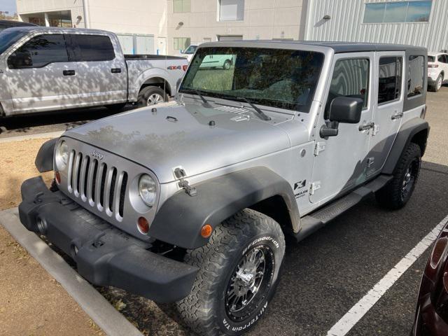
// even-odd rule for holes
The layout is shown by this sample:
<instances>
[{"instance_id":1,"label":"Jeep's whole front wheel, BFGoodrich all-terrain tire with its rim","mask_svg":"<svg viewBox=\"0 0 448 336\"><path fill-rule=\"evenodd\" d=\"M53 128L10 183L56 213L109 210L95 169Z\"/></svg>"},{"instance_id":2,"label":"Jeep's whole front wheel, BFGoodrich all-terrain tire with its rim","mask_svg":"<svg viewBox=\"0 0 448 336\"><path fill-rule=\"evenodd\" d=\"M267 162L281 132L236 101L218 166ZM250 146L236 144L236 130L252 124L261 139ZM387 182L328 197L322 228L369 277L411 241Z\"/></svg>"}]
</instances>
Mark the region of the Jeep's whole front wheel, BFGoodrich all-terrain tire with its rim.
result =
<instances>
[{"instance_id":1,"label":"Jeep's whole front wheel, BFGoodrich all-terrain tire with its rim","mask_svg":"<svg viewBox=\"0 0 448 336\"><path fill-rule=\"evenodd\" d=\"M200 268L193 289L176 302L182 322L199 335L241 335L274 295L285 240L280 225L245 209L215 228L209 243L188 251Z\"/></svg>"}]
</instances>

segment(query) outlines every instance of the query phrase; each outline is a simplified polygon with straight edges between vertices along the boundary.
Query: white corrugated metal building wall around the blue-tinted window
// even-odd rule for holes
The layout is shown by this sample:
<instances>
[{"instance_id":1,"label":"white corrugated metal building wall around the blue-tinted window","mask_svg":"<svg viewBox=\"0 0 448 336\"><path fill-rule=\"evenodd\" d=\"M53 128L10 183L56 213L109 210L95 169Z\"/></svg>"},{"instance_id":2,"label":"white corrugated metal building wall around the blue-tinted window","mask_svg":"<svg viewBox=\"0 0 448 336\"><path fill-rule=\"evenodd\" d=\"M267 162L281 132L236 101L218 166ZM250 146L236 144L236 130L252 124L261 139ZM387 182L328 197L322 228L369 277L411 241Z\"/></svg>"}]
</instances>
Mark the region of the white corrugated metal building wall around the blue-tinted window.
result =
<instances>
[{"instance_id":1,"label":"white corrugated metal building wall around the blue-tinted window","mask_svg":"<svg viewBox=\"0 0 448 336\"><path fill-rule=\"evenodd\" d=\"M430 51L448 49L447 0L433 0L428 22L364 24L364 3L374 2L384 0L310 0L305 39L404 43ZM323 20L324 15L330 15L330 20Z\"/></svg>"}]
</instances>

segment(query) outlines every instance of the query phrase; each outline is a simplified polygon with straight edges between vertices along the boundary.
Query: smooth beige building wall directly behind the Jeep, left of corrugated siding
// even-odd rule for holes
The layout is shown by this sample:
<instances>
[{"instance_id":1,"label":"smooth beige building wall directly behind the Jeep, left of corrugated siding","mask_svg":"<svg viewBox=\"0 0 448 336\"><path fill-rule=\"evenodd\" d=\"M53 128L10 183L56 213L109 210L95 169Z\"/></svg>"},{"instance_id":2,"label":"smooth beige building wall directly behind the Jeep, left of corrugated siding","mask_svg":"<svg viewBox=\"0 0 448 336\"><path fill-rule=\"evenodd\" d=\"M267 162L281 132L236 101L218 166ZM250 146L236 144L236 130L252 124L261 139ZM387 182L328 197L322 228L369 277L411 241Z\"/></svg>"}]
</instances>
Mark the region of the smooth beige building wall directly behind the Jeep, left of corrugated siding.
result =
<instances>
[{"instance_id":1,"label":"smooth beige building wall directly behind the Jeep, left of corrugated siding","mask_svg":"<svg viewBox=\"0 0 448 336\"><path fill-rule=\"evenodd\" d=\"M304 37L308 0L245 0L244 20L219 21L219 0L191 0L189 13L173 13L173 0L167 0L168 53L176 54L174 38L190 38L191 44L217 41L217 36L243 36L244 39ZM183 22L183 25L179 25Z\"/></svg>"}]
</instances>

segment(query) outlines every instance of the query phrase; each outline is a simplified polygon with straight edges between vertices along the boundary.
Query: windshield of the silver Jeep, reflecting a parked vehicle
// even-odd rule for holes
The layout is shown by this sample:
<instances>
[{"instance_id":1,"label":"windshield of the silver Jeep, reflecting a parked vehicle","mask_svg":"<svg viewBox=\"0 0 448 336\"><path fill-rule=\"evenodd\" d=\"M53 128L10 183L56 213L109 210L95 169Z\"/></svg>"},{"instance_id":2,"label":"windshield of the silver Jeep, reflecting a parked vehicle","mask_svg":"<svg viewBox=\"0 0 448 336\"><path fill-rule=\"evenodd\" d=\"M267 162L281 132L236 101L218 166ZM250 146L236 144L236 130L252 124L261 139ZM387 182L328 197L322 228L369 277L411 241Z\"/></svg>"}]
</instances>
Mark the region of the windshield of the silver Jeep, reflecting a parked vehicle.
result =
<instances>
[{"instance_id":1,"label":"windshield of the silver Jeep, reflecting a parked vehicle","mask_svg":"<svg viewBox=\"0 0 448 336\"><path fill-rule=\"evenodd\" d=\"M308 112L321 52L271 48L199 48L180 92Z\"/></svg>"}]
</instances>

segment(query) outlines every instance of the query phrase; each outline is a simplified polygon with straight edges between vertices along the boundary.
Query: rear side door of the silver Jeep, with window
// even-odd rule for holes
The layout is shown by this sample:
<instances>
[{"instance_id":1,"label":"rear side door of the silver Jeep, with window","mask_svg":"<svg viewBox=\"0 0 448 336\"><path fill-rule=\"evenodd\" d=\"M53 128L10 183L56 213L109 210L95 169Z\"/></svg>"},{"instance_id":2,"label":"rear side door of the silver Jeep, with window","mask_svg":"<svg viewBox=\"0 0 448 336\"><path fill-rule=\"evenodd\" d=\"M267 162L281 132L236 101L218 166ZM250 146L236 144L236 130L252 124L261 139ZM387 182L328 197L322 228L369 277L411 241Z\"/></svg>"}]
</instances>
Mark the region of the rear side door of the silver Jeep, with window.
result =
<instances>
[{"instance_id":1,"label":"rear side door of the silver Jeep, with window","mask_svg":"<svg viewBox=\"0 0 448 336\"><path fill-rule=\"evenodd\" d=\"M405 52L377 52L375 60L374 112L370 151L367 155L367 175L381 170L403 116Z\"/></svg>"}]
</instances>

